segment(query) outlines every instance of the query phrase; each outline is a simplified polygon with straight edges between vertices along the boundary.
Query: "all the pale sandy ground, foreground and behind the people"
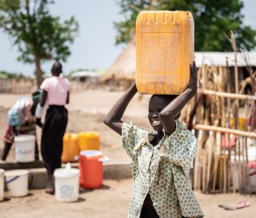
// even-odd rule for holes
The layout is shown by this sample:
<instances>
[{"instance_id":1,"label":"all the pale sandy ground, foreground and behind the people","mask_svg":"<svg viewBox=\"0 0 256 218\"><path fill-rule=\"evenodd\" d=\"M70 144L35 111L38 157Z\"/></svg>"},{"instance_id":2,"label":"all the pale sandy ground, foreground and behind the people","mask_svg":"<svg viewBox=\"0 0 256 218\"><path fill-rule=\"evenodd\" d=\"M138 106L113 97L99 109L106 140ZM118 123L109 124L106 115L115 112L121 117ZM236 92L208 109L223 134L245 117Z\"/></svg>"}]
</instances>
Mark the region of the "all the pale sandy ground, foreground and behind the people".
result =
<instances>
[{"instance_id":1,"label":"all the pale sandy ground, foreground and behind the people","mask_svg":"<svg viewBox=\"0 0 256 218\"><path fill-rule=\"evenodd\" d=\"M97 131L101 136L101 148L110 160L129 160L121 148L121 137L102 124L104 115L122 92L109 92L103 89L71 93L69 124L67 132ZM18 95L0 94L0 137L6 129L7 110L18 99ZM124 121L132 121L140 127L149 129L147 121L148 96L134 97L125 113ZM40 129L38 129L38 139ZM38 140L39 141L39 140ZM0 155L2 142L0 141ZM14 147L7 161L14 160ZM44 190L30 190L30 195L11 198L0 203L0 218L122 218L126 217L132 190L132 180L105 180L102 188L94 191L81 190L80 198L75 203L62 203L48 196ZM256 196L239 194L204 195L196 193L206 218L253 218L256 217ZM241 200L250 202L249 208L225 211L218 204L235 206Z\"/></svg>"}]
</instances>

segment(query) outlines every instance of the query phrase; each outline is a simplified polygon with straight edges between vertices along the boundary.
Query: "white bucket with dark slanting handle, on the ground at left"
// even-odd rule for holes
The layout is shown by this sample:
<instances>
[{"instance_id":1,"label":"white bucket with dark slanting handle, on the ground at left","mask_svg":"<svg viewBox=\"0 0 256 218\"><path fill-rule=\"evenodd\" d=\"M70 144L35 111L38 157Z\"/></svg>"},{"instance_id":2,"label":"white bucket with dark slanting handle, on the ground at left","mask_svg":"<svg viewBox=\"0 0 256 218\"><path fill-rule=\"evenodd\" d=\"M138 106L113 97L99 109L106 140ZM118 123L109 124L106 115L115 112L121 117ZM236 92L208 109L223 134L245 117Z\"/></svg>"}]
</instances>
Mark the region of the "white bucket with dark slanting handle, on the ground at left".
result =
<instances>
[{"instance_id":1,"label":"white bucket with dark slanting handle, on the ground at left","mask_svg":"<svg viewBox=\"0 0 256 218\"><path fill-rule=\"evenodd\" d=\"M26 196L28 194L29 172L26 169L15 169L5 172L9 196Z\"/></svg>"}]
</instances>

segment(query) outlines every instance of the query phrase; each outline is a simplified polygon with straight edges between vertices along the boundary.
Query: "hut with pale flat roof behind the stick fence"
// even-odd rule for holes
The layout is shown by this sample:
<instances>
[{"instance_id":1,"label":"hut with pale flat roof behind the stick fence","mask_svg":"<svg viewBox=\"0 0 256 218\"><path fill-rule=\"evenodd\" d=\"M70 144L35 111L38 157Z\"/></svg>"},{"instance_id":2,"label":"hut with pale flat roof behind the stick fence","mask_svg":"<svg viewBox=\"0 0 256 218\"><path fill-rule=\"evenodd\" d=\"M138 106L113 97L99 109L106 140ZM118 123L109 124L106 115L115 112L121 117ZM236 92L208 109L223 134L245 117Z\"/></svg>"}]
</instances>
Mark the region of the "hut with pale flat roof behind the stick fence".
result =
<instances>
[{"instance_id":1,"label":"hut with pale flat roof behind the stick fence","mask_svg":"<svg viewBox=\"0 0 256 218\"><path fill-rule=\"evenodd\" d=\"M233 52L196 52L195 61L198 67L206 70L208 79L213 75L212 73L218 72L218 80L222 81L219 84L222 86L221 91L227 91L227 83L230 81L231 93L235 93L234 68L237 65L239 93L252 94L252 81L250 80L249 69L253 71L256 69L256 52L238 52L236 63L234 55ZM217 81L215 80L214 82L216 83ZM218 86L218 91L220 91L219 85L215 85L215 88ZM208 86L207 89L213 89L213 87Z\"/></svg>"}]
</instances>

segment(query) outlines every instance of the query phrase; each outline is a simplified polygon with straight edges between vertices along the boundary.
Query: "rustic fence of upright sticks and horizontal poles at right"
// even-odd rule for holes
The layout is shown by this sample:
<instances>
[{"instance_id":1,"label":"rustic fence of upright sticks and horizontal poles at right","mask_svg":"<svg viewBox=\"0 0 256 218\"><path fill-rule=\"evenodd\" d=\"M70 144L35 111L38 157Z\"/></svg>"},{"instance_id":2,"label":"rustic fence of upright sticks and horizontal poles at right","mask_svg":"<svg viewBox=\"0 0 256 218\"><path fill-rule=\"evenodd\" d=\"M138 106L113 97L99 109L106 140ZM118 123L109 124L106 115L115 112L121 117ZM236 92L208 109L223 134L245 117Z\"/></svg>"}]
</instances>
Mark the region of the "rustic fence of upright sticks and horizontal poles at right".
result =
<instances>
[{"instance_id":1,"label":"rustic fence of upright sticks and horizontal poles at right","mask_svg":"<svg viewBox=\"0 0 256 218\"><path fill-rule=\"evenodd\" d=\"M256 152L248 154L248 149L255 148L256 97L243 94L251 78L240 82L238 93L230 93L235 83L228 69L198 69L198 95L182 111L198 138L193 187L206 193L251 192L248 164Z\"/></svg>"}]
</instances>

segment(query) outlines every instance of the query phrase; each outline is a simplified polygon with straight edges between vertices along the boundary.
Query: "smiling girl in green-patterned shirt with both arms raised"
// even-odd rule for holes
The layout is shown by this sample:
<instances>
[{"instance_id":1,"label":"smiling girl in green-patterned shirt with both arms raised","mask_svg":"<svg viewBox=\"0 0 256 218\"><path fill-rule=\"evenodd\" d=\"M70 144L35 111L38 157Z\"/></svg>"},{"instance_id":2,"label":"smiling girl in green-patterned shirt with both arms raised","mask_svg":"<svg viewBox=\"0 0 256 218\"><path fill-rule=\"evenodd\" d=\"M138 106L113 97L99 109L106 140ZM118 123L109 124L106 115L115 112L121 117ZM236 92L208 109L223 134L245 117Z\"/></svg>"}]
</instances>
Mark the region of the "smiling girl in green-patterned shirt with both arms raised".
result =
<instances>
[{"instance_id":1,"label":"smiling girl in green-patterned shirt with both arms raised","mask_svg":"<svg viewBox=\"0 0 256 218\"><path fill-rule=\"evenodd\" d=\"M145 28L149 28L151 20L154 23L158 22L159 16L154 17L157 13L150 13L145 18L147 22ZM160 31L158 38L162 38L161 34ZM163 37L166 37L166 34ZM138 40L137 37L137 43ZM175 59L175 55L172 54L170 62ZM137 62L137 66L140 64ZM126 90L104 119L104 123L110 129L122 136L122 147L133 161L131 171L134 177L134 190L128 210L129 218L201 218L203 216L188 179L190 165L197 152L197 140L194 134L178 121L182 108L197 93L197 69L195 62L190 67L189 63L180 65L181 68L190 70L190 80L185 90L183 89L178 96L154 94L150 97L148 119L154 131L141 129L132 123L122 121L127 105L138 92L135 83ZM147 77L149 74L145 75ZM168 82L175 86L180 80L172 79ZM160 83L157 85L161 86ZM168 88L169 86L166 85L166 89Z\"/></svg>"}]
</instances>

